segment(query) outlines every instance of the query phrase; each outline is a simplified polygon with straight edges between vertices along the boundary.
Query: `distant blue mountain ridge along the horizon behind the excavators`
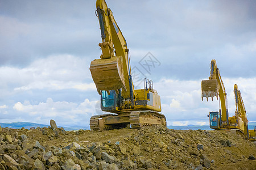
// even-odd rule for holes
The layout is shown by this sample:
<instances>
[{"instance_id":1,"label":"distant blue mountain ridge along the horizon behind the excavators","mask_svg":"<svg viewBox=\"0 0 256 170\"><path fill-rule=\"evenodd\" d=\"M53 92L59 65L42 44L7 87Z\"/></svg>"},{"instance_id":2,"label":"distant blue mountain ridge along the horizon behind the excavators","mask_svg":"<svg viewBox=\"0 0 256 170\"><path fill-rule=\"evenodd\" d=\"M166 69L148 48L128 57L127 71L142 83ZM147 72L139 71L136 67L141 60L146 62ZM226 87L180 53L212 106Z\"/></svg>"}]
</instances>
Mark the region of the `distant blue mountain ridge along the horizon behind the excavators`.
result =
<instances>
[{"instance_id":1,"label":"distant blue mountain ridge along the horizon behind the excavators","mask_svg":"<svg viewBox=\"0 0 256 170\"><path fill-rule=\"evenodd\" d=\"M26 129L30 129L32 127L40 127L40 128L43 128L43 127L47 127L49 125L44 125L44 124L36 124L36 123L31 123L31 122L12 122L12 123L0 123L0 126L2 128L11 128L11 129L21 129L21 128L26 128ZM249 122L248 123L248 127L249 129L253 129L254 126L256 126L256 122ZM63 126L58 126L59 128L60 127L63 127ZM65 130L79 130L79 129L82 129L82 130L90 130L90 127L89 126L79 126L79 125L73 125L73 126L69 126L69 127L63 127ZM213 129L210 129L210 126L209 125L187 125L187 126L167 126L168 129L176 129L176 130L198 130L198 129L201 129L201 130L213 130Z\"/></svg>"}]
</instances>

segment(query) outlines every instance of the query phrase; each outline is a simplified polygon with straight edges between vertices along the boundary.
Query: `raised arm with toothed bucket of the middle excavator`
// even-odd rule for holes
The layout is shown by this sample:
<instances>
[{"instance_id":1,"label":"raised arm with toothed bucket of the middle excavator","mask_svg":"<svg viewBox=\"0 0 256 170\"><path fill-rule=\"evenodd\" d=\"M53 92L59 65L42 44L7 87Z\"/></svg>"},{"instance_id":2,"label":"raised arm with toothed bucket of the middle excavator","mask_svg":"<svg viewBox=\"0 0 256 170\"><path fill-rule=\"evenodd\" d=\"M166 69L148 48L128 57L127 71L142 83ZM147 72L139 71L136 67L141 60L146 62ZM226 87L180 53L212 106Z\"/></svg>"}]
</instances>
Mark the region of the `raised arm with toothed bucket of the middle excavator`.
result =
<instances>
[{"instance_id":1,"label":"raised arm with toothed bucket of the middle excavator","mask_svg":"<svg viewBox=\"0 0 256 170\"><path fill-rule=\"evenodd\" d=\"M220 97L221 109L218 112L220 120L218 121L218 125L220 127L228 126L228 105L226 99L226 91L224 87L224 83L221 79L220 70L217 67L215 59L212 59L210 62L210 76L209 80L203 80L201 82L201 90L202 90L202 100L204 97Z\"/></svg>"}]
</instances>

